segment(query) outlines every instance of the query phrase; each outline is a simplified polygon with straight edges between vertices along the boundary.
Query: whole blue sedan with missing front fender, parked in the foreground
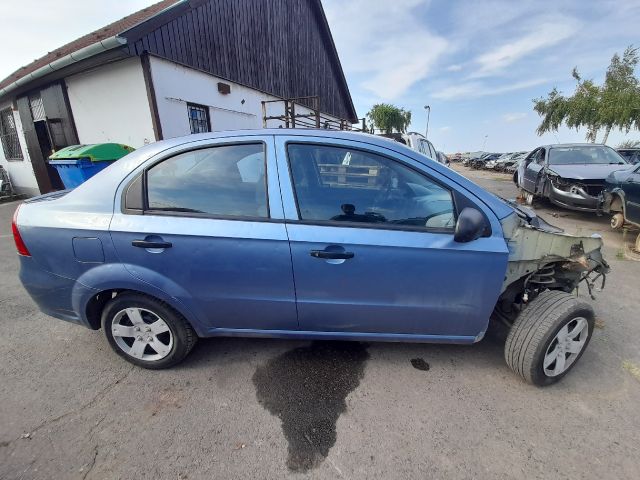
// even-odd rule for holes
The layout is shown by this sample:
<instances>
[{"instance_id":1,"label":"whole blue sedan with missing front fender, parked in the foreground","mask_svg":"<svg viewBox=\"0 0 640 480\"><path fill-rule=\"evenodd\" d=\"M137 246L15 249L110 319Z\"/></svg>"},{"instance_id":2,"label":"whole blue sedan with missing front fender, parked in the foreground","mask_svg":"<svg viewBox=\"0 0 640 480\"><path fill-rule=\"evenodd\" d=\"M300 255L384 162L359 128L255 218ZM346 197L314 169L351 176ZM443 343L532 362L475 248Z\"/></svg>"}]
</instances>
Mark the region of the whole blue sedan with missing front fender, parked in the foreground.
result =
<instances>
[{"instance_id":1,"label":"whole blue sedan with missing front fender, parked in the foreground","mask_svg":"<svg viewBox=\"0 0 640 480\"><path fill-rule=\"evenodd\" d=\"M141 367L199 337L471 344L558 381L593 334L599 237L574 237L400 144L255 130L145 146L25 201L13 234L40 309Z\"/></svg>"}]
</instances>

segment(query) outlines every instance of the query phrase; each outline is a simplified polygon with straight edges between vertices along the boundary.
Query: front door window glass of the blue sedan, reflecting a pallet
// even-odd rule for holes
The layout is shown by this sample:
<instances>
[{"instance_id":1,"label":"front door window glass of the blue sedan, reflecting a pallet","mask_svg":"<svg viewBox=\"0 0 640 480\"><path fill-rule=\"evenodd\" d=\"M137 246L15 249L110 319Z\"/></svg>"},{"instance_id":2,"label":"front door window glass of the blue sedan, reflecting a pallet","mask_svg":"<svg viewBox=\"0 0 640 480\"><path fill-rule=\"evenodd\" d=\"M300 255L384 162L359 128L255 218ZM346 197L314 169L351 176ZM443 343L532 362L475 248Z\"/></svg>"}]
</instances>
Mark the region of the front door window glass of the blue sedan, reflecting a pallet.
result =
<instances>
[{"instance_id":1,"label":"front door window glass of the blue sedan, reflecting a pallet","mask_svg":"<svg viewBox=\"0 0 640 480\"><path fill-rule=\"evenodd\" d=\"M290 144L301 220L452 230L451 192L390 158L327 145Z\"/></svg>"}]
</instances>

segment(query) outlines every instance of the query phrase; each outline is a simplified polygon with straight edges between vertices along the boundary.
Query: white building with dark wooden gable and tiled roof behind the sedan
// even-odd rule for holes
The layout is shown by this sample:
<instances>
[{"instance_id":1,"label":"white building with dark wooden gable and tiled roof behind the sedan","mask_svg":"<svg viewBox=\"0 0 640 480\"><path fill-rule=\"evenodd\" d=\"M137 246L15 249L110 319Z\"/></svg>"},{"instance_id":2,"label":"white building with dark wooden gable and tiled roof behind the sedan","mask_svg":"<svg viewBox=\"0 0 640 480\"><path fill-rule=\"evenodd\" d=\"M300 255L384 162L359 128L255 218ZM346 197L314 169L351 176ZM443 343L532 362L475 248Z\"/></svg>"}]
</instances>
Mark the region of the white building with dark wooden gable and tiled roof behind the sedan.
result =
<instances>
[{"instance_id":1,"label":"white building with dark wooden gable and tiled roof behind the sedan","mask_svg":"<svg viewBox=\"0 0 640 480\"><path fill-rule=\"evenodd\" d=\"M317 99L288 112L313 114L298 126L357 121L320 0L164 0L0 81L0 164L19 193L45 193L67 145L261 128L285 110L263 101L300 97Z\"/></svg>"}]
</instances>

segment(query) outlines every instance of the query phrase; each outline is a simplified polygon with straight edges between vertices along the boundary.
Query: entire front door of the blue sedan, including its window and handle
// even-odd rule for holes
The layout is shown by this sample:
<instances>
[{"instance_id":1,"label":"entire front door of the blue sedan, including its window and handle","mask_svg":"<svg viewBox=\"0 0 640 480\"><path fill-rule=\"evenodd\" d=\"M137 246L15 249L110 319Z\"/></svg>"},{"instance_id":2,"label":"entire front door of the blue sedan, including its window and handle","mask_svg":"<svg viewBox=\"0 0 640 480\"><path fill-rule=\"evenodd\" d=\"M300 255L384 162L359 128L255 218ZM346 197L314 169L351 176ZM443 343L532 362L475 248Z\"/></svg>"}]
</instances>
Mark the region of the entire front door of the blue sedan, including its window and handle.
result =
<instances>
[{"instance_id":1,"label":"entire front door of the blue sedan, including its window and handle","mask_svg":"<svg viewBox=\"0 0 640 480\"><path fill-rule=\"evenodd\" d=\"M360 142L276 145L301 330L470 342L484 332L505 241L497 226L454 242L456 204L471 203L445 177Z\"/></svg>"}]
</instances>

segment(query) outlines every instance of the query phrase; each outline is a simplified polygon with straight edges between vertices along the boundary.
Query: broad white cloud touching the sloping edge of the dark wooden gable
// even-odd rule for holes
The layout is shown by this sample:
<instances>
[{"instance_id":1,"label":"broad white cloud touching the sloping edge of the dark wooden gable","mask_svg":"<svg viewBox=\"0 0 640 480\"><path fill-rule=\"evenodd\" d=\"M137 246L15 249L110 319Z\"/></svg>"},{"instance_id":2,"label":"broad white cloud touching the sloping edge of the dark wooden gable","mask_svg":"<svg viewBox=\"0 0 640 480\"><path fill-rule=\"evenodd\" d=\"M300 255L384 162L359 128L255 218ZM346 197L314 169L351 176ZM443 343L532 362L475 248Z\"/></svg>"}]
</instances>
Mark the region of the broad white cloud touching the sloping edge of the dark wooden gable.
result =
<instances>
[{"instance_id":1,"label":"broad white cloud touching the sloping edge of the dark wooden gable","mask_svg":"<svg viewBox=\"0 0 640 480\"><path fill-rule=\"evenodd\" d=\"M393 100L425 79L448 42L416 14L427 0L325 0L347 76L381 100Z\"/></svg>"}]
</instances>

